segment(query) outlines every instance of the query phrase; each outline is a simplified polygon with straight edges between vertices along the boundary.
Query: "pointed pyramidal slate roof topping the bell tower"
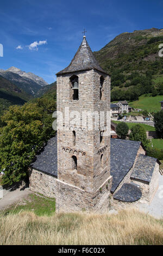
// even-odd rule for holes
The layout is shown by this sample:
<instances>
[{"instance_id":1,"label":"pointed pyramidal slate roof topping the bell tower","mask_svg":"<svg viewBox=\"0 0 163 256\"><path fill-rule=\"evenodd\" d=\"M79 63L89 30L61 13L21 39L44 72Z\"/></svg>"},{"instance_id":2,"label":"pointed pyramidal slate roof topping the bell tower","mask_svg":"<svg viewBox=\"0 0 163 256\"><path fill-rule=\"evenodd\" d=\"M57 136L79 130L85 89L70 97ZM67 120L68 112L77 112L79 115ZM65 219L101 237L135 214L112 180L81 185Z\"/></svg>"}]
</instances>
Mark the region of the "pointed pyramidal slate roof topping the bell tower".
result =
<instances>
[{"instance_id":1,"label":"pointed pyramidal slate roof topping the bell tower","mask_svg":"<svg viewBox=\"0 0 163 256\"><path fill-rule=\"evenodd\" d=\"M77 53L73 57L70 65L67 68L61 70L56 75L79 71L79 70L90 70L97 69L106 74L106 72L99 66L97 60L93 56L91 48L83 36L82 44L79 46Z\"/></svg>"}]
</instances>

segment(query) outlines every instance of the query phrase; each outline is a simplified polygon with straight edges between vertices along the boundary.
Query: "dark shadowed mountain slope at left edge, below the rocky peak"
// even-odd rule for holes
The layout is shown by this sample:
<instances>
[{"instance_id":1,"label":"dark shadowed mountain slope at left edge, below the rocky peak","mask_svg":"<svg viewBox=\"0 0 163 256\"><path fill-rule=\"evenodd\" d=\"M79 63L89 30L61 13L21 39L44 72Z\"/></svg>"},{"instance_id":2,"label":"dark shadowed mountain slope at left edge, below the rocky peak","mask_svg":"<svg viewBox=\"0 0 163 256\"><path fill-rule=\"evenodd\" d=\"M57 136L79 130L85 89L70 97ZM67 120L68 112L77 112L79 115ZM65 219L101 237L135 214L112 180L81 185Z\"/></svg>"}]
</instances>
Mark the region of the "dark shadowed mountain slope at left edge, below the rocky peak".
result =
<instances>
[{"instance_id":1,"label":"dark shadowed mountain slope at left edge, below the rocky peak","mask_svg":"<svg viewBox=\"0 0 163 256\"><path fill-rule=\"evenodd\" d=\"M31 95L0 75L0 115L11 105L23 105Z\"/></svg>"}]
</instances>

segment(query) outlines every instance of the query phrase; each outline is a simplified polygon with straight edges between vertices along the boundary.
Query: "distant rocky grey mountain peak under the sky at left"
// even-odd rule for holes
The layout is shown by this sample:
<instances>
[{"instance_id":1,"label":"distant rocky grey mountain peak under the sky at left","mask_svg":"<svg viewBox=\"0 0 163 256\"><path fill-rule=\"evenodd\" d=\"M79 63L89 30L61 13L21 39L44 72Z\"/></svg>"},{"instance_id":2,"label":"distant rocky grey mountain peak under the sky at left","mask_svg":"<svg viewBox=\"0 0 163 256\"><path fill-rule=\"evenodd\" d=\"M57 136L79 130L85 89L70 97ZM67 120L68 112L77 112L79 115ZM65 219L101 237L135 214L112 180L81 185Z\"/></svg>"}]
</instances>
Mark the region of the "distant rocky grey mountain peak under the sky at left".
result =
<instances>
[{"instance_id":1,"label":"distant rocky grey mountain peak under the sky at left","mask_svg":"<svg viewBox=\"0 0 163 256\"><path fill-rule=\"evenodd\" d=\"M42 86L48 83L43 78L34 75L31 72L24 72L12 66L7 70L0 69L0 75L14 83L17 87L24 90L24 92L35 96Z\"/></svg>"}]
</instances>

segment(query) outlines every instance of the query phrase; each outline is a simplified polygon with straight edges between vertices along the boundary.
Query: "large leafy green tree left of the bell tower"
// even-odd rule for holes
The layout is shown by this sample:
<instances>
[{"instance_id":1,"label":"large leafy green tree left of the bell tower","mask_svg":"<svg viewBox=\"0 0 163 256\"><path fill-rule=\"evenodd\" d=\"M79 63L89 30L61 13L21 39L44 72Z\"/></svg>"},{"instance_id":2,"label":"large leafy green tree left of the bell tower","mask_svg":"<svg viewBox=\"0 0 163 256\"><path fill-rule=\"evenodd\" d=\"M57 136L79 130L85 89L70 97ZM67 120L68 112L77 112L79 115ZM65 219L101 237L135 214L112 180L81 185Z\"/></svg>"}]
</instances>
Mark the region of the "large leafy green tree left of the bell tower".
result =
<instances>
[{"instance_id":1,"label":"large leafy green tree left of the bell tower","mask_svg":"<svg viewBox=\"0 0 163 256\"><path fill-rule=\"evenodd\" d=\"M47 106L45 107L45 103ZM23 106L11 106L2 117L5 126L0 133L0 166L3 184L12 185L27 177L29 164L36 153L54 136L52 113L55 103L42 99Z\"/></svg>"}]
</instances>

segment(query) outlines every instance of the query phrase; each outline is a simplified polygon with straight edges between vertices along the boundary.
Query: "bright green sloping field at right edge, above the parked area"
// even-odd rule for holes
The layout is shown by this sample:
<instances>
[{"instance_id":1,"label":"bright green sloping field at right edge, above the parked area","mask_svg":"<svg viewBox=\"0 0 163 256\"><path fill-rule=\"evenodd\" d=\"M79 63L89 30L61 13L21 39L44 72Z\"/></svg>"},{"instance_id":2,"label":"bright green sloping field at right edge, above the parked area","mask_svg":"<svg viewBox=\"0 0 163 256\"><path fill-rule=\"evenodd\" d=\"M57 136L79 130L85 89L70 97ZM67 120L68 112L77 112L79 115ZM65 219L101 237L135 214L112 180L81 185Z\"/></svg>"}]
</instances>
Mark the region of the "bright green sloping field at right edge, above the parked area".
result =
<instances>
[{"instance_id":1,"label":"bright green sloping field at right edge, above the parked area","mask_svg":"<svg viewBox=\"0 0 163 256\"><path fill-rule=\"evenodd\" d=\"M129 102L129 105L134 108L141 108L148 112L158 112L161 110L160 101L163 100L163 95L155 97L142 95L139 100Z\"/></svg>"}]
</instances>

